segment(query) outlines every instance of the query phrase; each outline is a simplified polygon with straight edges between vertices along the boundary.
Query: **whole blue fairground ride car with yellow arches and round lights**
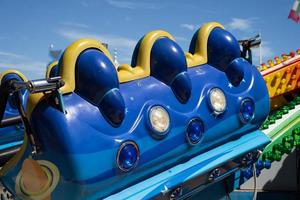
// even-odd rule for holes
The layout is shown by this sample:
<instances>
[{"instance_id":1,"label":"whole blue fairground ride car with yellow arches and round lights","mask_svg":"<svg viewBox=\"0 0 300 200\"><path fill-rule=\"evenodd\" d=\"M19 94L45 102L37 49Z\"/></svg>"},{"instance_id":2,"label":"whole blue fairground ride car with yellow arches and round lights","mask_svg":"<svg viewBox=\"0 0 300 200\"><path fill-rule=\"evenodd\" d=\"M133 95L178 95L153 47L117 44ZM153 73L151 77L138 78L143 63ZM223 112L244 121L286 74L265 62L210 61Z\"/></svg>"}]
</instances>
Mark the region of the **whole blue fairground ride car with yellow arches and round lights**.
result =
<instances>
[{"instance_id":1,"label":"whole blue fairground ride car with yellow arches and round lights","mask_svg":"<svg viewBox=\"0 0 300 200\"><path fill-rule=\"evenodd\" d=\"M255 155L244 156L269 142L258 131L269 113L264 80L218 23L199 29L187 53L150 32L118 68L100 42L79 40L54 70L61 96L30 94L27 104L40 151L25 136L0 171L18 198L153 198L250 165Z\"/></svg>"}]
</instances>

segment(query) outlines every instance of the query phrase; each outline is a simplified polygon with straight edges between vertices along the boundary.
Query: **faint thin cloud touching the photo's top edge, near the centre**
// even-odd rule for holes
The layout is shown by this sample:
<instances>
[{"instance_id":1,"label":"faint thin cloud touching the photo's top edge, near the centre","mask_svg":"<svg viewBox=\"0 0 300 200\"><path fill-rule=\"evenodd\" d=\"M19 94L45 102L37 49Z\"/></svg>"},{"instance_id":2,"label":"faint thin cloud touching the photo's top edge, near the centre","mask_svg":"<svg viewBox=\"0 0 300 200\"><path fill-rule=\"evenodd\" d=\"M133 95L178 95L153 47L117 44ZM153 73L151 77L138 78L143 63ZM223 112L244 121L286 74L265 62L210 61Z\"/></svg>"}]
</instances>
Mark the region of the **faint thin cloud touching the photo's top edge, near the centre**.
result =
<instances>
[{"instance_id":1,"label":"faint thin cloud touching the photo's top edge, near the centre","mask_svg":"<svg viewBox=\"0 0 300 200\"><path fill-rule=\"evenodd\" d=\"M108 4L111 6L117 7L117 8L123 8L123 9L160 9L161 4L155 4L153 2L141 2L141 1L133 1L133 0L127 0L127 1L121 1L121 0L106 0Z\"/></svg>"}]
</instances>

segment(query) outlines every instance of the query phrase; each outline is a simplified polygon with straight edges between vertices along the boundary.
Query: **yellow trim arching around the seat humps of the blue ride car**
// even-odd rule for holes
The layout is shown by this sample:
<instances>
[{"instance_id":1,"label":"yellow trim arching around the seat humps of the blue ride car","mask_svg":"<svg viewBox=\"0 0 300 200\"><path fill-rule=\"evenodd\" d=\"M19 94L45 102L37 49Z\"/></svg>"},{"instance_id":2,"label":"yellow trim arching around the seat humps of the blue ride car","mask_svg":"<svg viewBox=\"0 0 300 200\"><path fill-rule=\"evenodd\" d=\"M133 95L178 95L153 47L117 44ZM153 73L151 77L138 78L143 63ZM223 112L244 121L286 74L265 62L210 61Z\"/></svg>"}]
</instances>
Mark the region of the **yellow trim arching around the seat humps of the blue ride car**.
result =
<instances>
[{"instance_id":1,"label":"yellow trim arching around the seat humps of the blue ride car","mask_svg":"<svg viewBox=\"0 0 300 200\"><path fill-rule=\"evenodd\" d=\"M188 67L194 67L207 63L207 42L210 32L214 28L224 28L221 24L217 22L210 22L201 27L198 32L198 37L195 44L195 53L186 53L186 60ZM174 40L173 36L168 32L156 30L149 32L143 38L139 52L137 54L137 63L134 68L128 64L123 64L118 67L118 79L120 83L133 81L141 78L145 78L150 75L150 56L151 49L154 42L161 38L167 37ZM75 90L75 65L78 56L81 52L86 49L94 48L102 51L113 63L113 59L108 52L108 50L96 40L91 39L81 39L73 44L71 44L63 53L63 57L60 63L60 76L65 82L65 85L60 89L63 94L71 93ZM36 106L36 104L41 100L43 94L31 94L29 95L27 104L28 116Z\"/></svg>"}]
</instances>

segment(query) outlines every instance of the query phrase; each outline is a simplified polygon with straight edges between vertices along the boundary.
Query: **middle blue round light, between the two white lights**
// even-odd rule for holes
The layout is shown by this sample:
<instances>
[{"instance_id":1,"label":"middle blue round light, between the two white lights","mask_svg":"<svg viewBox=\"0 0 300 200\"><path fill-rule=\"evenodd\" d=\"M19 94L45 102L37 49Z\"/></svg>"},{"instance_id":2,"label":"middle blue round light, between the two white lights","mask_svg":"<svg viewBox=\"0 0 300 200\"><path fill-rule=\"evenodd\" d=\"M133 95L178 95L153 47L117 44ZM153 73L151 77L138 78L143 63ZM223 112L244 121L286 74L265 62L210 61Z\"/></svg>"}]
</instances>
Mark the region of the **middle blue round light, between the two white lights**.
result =
<instances>
[{"instance_id":1,"label":"middle blue round light, between the two white lights","mask_svg":"<svg viewBox=\"0 0 300 200\"><path fill-rule=\"evenodd\" d=\"M203 123L200 119L192 119L186 129L186 136L191 145L199 143L204 132Z\"/></svg>"}]
</instances>

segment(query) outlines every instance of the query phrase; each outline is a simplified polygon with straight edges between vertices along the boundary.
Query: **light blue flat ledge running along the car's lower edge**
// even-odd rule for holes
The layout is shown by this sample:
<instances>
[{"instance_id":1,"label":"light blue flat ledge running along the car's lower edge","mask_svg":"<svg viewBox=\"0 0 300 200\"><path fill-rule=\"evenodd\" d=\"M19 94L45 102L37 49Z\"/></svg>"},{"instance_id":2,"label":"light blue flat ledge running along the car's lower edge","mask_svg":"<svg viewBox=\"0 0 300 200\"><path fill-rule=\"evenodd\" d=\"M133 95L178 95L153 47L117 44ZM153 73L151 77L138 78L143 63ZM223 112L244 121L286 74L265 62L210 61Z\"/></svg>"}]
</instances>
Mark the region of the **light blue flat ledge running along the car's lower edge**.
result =
<instances>
[{"instance_id":1,"label":"light blue flat ledge running along the car's lower edge","mask_svg":"<svg viewBox=\"0 0 300 200\"><path fill-rule=\"evenodd\" d=\"M235 159L238 155L243 155L256 148L262 148L269 142L270 139L262 132L254 131L238 140L223 144L194 157L186 163L128 187L106 199L151 199L166 190L166 188L173 189L194 177L218 167L220 163Z\"/></svg>"}]
</instances>

